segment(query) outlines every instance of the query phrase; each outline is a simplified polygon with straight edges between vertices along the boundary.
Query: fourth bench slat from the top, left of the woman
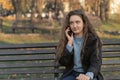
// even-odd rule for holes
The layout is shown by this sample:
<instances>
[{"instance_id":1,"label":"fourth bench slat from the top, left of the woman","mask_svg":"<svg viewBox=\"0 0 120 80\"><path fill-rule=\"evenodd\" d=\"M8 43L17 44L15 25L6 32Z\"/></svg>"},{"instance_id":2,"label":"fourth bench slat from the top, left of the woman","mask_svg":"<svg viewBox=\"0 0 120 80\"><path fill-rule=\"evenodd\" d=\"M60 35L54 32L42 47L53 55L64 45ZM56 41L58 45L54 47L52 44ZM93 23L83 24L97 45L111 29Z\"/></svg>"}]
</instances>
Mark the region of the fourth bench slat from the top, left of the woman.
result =
<instances>
[{"instance_id":1,"label":"fourth bench slat from the top, left of the woman","mask_svg":"<svg viewBox=\"0 0 120 80\"><path fill-rule=\"evenodd\" d=\"M0 69L7 68L36 68L36 67L54 67L53 61L49 62L22 62L22 63L0 63Z\"/></svg>"}]
</instances>

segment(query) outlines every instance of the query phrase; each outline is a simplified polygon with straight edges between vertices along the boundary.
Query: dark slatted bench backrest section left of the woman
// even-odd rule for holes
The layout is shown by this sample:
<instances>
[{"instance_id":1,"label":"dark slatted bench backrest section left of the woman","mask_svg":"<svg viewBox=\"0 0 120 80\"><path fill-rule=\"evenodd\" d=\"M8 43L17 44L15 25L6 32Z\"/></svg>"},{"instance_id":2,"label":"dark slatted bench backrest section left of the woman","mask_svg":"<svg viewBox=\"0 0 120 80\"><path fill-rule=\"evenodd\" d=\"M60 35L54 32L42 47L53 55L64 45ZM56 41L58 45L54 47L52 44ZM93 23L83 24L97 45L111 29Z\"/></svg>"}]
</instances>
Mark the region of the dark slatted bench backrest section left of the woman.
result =
<instances>
[{"instance_id":1,"label":"dark slatted bench backrest section left of the woman","mask_svg":"<svg viewBox=\"0 0 120 80\"><path fill-rule=\"evenodd\" d=\"M55 43L0 45L0 78L53 80L55 47Z\"/></svg>"}]
</instances>

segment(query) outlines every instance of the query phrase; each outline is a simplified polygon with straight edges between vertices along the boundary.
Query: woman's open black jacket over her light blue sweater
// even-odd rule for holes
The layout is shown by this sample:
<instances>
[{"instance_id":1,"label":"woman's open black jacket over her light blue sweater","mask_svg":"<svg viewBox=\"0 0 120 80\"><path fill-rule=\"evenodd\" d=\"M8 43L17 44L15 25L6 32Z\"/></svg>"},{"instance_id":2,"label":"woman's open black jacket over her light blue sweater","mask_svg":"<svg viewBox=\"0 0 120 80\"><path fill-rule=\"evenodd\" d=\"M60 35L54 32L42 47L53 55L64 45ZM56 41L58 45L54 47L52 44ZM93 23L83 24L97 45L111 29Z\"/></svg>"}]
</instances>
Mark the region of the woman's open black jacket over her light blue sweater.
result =
<instances>
[{"instance_id":1,"label":"woman's open black jacket over her light blue sweater","mask_svg":"<svg viewBox=\"0 0 120 80\"><path fill-rule=\"evenodd\" d=\"M72 51L74 53L74 50ZM83 52L81 51L81 54ZM92 35L88 36L86 41L86 45L84 48L84 54L80 55L83 69L86 72L93 72L94 77L97 80L104 80L101 75L101 65L102 65L102 53L101 53L101 43L98 37L94 37ZM59 63L65 66L65 71L61 78L68 76L74 66L74 55L70 54L70 52L65 48L63 51L63 55L61 56Z\"/></svg>"}]
</instances>

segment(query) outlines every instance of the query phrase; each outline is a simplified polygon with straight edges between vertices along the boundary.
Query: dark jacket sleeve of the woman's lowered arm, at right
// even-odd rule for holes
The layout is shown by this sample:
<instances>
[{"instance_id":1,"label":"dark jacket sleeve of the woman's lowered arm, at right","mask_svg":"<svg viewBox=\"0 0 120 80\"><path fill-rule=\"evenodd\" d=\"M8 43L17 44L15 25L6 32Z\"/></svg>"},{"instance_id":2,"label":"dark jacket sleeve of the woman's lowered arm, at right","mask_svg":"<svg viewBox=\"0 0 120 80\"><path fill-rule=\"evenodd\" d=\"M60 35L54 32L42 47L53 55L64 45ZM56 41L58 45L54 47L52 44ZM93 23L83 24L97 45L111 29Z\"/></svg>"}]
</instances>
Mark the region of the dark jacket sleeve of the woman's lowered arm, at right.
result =
<instances>
[{"instance_id":1,"label":"dark jacket sleeve of the woman's lowered arm, at right","mask_svg":"<svg viewBox=\"0 0 120 80\"><path fill-rule=\"evenodd\" d=\"M97 75L100 72L102 65L102 51L101 51L101 43L98 39L98 43L96 43L97 47L95 47L91 57L90 57L90 67L88 68L88 72L93 72Z\"/></svg>"}]
</instances>

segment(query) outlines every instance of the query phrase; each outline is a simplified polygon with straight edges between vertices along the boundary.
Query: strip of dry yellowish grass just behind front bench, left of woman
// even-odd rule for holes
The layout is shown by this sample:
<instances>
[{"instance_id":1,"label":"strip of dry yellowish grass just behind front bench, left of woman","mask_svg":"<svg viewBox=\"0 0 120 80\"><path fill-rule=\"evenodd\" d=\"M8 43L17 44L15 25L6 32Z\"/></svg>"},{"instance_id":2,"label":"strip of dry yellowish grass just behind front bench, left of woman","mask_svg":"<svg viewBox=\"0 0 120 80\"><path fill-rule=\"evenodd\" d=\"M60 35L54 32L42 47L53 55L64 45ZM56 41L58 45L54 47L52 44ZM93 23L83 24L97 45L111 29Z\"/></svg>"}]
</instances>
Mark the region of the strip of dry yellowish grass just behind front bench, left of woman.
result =
<instances>
[{"instance_id":1,"label":"strip of dry yellowish grass just behind front bench, left of woman","mask_svg":"<svg viewBox=\"0 0 120 80\"><path fill-rule=\"evenodd\" d=\"M5 34L0 33L0 43L42 43L42 42L53 42L55 41L53 36L47 34Z\"/></svg>"}]
</instances>

